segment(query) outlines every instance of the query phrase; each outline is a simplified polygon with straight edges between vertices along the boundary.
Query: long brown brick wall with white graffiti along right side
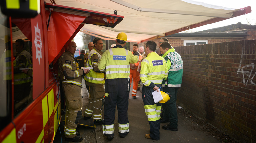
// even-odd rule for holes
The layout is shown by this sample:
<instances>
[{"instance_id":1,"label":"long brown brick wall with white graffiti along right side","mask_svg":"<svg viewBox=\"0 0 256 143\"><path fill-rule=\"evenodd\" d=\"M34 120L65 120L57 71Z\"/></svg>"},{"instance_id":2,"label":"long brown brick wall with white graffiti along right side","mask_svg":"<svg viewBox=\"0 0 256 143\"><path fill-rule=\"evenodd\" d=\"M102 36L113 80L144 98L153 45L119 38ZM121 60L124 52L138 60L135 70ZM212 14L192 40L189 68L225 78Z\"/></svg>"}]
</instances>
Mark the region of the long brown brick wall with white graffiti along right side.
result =
<instances>
[{"instance_id":1,"label":"long brown brick wall with white graffiti along right side","mask_svg":"<svg viewBox=\"0 0 256 143\"><path fill-rule=\"evenodd\" d=\"M256 142L256 40L175 47L177 103L242 143Z\"/></svg>"}]
</instances>

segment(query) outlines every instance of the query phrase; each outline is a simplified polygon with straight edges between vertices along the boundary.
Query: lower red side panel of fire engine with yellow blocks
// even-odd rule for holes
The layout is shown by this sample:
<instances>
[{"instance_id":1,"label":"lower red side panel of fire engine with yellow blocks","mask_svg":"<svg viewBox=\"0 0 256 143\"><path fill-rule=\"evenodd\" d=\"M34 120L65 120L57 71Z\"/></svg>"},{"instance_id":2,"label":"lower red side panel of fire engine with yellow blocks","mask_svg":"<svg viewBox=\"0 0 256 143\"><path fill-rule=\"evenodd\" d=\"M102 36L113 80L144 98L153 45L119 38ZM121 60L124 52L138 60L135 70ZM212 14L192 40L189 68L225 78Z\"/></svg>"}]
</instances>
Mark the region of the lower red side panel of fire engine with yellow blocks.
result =
<instances>
[{"instance_id":1,"label":"lower red side panel of fire engine with yellow blocks","mask_svg":"<svg viewBox=\"0 0 256 143\"><path fill-rule=\"evenodd\" d=\"M60 99L55 102L58 93L56 90L58 88L54 82L14 119L16 128L12 123L7 126L6 129L10 132L5 134L2 143L53 141L60 122Z\"/></svg>"}]
</instances>

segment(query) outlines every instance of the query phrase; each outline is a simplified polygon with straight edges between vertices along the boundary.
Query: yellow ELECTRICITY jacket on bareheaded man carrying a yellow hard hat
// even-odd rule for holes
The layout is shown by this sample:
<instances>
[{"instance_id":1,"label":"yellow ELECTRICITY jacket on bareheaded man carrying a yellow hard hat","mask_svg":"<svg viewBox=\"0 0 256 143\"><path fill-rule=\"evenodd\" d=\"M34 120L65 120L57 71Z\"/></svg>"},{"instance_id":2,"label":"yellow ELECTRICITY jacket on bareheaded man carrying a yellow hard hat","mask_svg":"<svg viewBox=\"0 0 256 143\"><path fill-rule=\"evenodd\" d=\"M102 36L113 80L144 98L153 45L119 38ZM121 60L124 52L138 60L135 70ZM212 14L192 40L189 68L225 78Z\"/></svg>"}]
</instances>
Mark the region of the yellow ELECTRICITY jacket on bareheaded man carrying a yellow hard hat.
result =
<instances>
[{"instance_id":1,"label":"yellow ELECTRICITY jacket on bareheaded man carrying a yellow hard hat","mask_svg":"<svg viewBox=\"0 0 256 143\"><path fill-rule=\"evenodd\" d=\"M163 78L167 78L169 68L163 57L155 52L151 52L141 62L140 79L145 86L161 84ZM154 84L151 84L154 83Z\"/></svg>"}]
</instances>

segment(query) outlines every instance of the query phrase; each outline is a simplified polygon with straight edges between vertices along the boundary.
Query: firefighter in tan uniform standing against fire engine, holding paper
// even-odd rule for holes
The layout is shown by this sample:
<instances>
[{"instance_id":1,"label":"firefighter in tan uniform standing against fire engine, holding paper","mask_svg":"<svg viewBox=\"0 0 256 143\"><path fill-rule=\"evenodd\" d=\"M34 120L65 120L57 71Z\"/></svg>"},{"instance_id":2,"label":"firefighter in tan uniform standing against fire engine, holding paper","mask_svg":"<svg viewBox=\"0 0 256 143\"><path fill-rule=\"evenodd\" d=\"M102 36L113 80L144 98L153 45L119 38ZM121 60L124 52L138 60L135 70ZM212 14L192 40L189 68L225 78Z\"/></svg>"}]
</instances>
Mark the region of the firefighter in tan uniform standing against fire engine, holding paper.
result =
<instances>
[{"instance_id":1,"label":"firefighter in tan uniform standing against fire engine, holding paper","mask_svg":"<svg viewBox=\"0 0 256 143\"><path fill-rule=\"evenodd\" d=\"M65 52L59 58L58 69L66 102L65 140L80 142L83 140L83 137L77 136L76 127L82 116L82 75L89 73L89 70L79 69L74 57L75 50L76 44L71 41Z\"/></svg>"}]
</instances>

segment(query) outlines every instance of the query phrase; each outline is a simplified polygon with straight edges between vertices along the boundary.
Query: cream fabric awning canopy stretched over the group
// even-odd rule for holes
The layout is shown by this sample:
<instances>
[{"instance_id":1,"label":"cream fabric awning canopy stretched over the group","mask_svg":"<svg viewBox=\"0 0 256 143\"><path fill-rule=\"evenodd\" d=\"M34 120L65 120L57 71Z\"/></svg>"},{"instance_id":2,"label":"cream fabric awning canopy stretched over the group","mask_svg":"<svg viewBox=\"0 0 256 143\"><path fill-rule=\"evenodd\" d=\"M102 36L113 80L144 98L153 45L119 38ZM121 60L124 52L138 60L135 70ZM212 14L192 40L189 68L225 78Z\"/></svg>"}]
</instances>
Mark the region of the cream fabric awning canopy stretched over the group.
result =
<instances>
[{"instance_id":1,"label":"cream fabric awning canopy stretched over the group","mask_svg":"<svg viewBox=\"0 0 256 143\"><path fill-rule=\"evenodd\" d=\"M81 32L115 40L125 32L130 42L145 42L251 12L192 0L45 0L47 3L124 16L114 28L85 24ZM108 38L104 38L108 37Z\"/></svg>"}]
</instances>

